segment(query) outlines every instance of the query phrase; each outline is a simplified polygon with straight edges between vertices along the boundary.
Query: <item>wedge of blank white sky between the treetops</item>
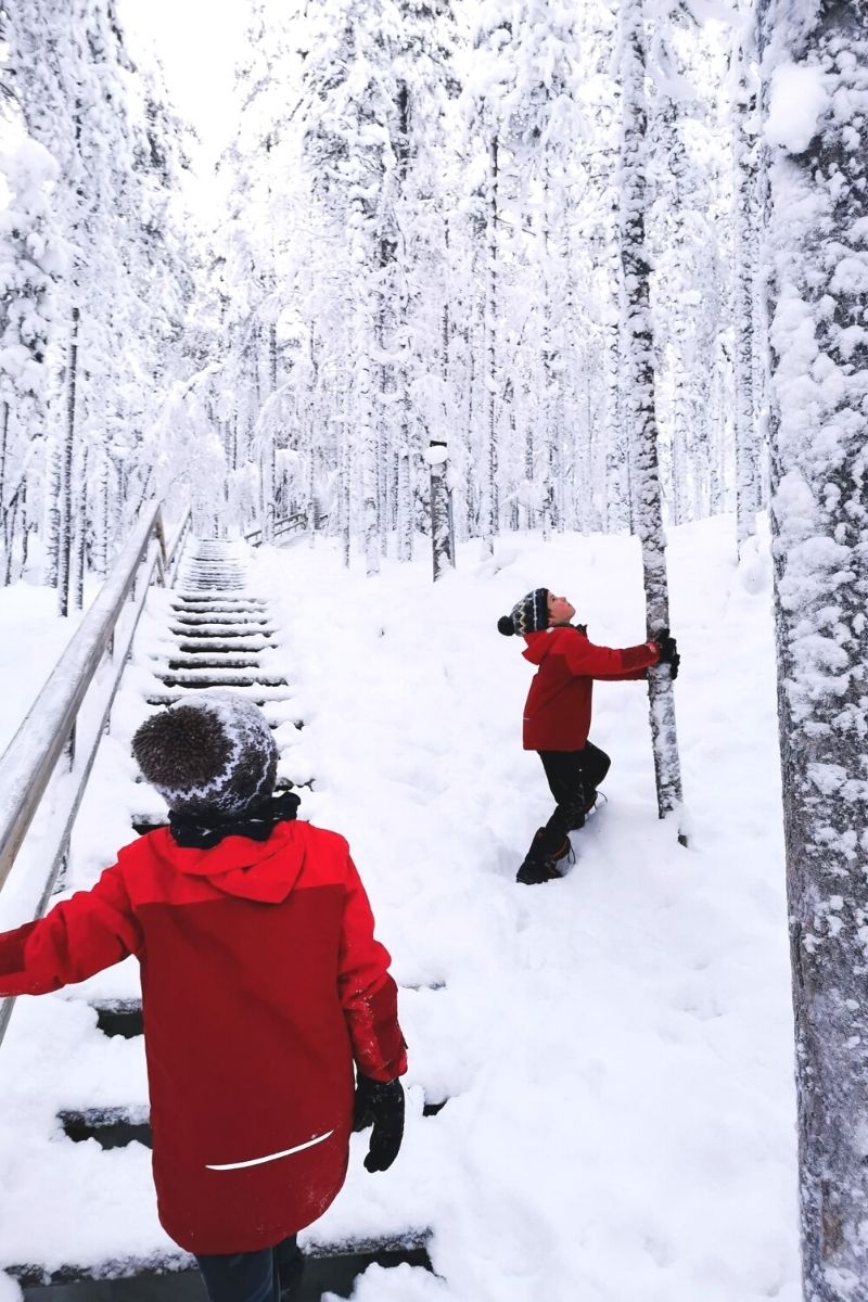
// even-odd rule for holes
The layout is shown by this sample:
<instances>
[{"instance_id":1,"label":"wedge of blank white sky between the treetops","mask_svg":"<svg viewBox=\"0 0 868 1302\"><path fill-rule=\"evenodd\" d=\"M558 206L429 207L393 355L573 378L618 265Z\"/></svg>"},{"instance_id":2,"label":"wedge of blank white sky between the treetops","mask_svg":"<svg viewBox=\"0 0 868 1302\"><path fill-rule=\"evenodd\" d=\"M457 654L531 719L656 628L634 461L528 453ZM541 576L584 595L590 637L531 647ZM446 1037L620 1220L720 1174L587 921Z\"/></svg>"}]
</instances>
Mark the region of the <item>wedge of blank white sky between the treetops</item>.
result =
<instances>
[{"instance_id":1,"label":"wedge of blank white sky between the treetops","mask_svg":"<svg viewBox=\"0 0 868 1302\"><path fill-rule=\"evenodd\" d=\"M234 135L233 70L249 9L247 0L118 0L130 49L152 43L169 94L211 163Z\"/></svg>"}]
</instances>

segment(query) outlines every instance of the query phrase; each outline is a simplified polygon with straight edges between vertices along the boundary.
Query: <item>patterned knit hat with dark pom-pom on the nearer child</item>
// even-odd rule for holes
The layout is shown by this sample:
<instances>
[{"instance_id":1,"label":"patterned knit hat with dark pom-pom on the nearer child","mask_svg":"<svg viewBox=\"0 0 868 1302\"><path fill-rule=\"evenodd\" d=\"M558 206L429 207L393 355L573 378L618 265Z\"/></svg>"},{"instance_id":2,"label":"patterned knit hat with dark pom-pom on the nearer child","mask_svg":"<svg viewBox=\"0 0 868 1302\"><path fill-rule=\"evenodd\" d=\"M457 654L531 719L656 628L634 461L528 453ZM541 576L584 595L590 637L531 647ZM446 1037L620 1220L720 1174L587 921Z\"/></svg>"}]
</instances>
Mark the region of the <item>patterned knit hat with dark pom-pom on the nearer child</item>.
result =
<instances>
[{"instance_id":1,"label":"patterned knit hat with dark pom-pom on the nearer child","mask_svg":"<svg viewBox=\"0 0 868 1302\"><path fill-rule=\"evenodd\" d=\"M151 715L133 754L177 812L243 814L275 790L277 746L265 716L233 691L191 691Z\"/></svg>"}]
</instances>

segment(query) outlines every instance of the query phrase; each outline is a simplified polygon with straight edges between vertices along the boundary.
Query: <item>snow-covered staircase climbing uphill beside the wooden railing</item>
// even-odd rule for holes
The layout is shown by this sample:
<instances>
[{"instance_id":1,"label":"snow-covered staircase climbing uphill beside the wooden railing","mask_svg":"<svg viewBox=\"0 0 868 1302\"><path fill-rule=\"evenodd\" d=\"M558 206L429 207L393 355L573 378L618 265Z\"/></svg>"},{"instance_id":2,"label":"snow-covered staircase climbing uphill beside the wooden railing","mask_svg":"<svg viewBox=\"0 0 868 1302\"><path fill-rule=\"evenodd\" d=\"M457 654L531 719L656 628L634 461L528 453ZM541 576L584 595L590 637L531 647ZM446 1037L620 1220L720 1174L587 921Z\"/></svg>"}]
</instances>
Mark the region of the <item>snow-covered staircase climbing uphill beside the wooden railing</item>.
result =
<instances>
[{"instance_id":1,"label":"snow-covered staircase climbing uphill beside the wooden railing","mask_svg":"<svg viewBox=\"0 0 868 1302\"><path fill-rule=\"evenodd\" d=\"M281 734L286 738L288 730L297 733L303 727L278 663L280 631L269 602L249 589L246 551L237 543L191 543L177 589L155 595L150 603L155 608L164 603L167 626L159 631L155 611L151 618L157 635L144 656L134 660L135 682L133 691L126 689L128 697L138 697L138 706L128 706L129 727L143 717L142 704L147 713L191 690L221 687L241 691L262 706L278 749ZM112 745L122 746L121 737ZM113 780L112 766L111 755L102 766L98 756L92 784ZM128 772L128 784L130 779ZM286 785L293 784L278 771L278 788ZM142 835L164 823L165 811L144 784L135 781L135 790L139 807L130 822ZM94 807L99 807L96 794ZM87 812L86 803L79 824ZM79 849L74 863L92 861L102 867L122 844L120 833L112 842L112 831L96 832L99 849ZM87 885L95 875L90 867L75 868L68 887ZM43 1128L36 1139L27 1139L29 1156L22 1157L29 1163L22 1197L33 1202L33 1234L23 1236L23 1247L21 1236L10 1247L0 1229L0 1268L13 1271L31 1299L202 1302L204 1294L190 1259L155 1226L135 965L128 961L59 996L21 1001L9 1040L0 1066L5 1060L26 1079L29 1073L38 1074L36 1066L44 1073L48 1055L56 1087L49 1099L30 1100L30 1115L22 1117L23 1124ZM21 1107L26 1113L27 1107ZM426 1107L424 1115L432 1116L440 1107ZM64 1228L60 1245L52 1224ZM79 1233L70 1232L70 1225ZM308 1255L299 1302L312 1302L324 1290L347 1297L353 1280L371 1262L428 1266L424 1233L320 1245Z\"/></svg>"}]
</instances>

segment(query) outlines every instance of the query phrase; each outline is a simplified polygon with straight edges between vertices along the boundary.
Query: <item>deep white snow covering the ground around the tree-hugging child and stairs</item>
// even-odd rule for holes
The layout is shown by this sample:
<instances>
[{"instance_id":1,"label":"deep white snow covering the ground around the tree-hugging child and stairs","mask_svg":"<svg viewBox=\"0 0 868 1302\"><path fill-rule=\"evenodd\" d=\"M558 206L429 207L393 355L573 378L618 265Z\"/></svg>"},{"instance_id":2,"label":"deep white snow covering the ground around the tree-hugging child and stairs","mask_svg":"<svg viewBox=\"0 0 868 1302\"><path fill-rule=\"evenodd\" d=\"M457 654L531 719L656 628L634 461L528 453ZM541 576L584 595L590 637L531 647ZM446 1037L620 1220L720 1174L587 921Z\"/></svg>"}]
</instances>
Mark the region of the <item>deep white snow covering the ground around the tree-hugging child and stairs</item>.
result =
<instances>
[{"instance_id":1,"label":"deep white snow covering the ground around the tree-hugging child and stairs","mask_svg":"<svg viewBox=\"0 0 868 1302\"><path fill-rule=\"evenodd\" d=\"M644 686L599 684L609 805L574 835L570 876L536 888L514 883L550 806L521 750L531 668L496 621L544 585L593 641L642 641L638 544L518 535L493 561L472 544L436 587L424 552L370 581L327 543L256 556L251 589L276 603L275 667L306 721L282 771L315 777L301 812L347 836L403 987L405 1148L380 1176L359 1152L307 1240L431 1228L439 1277L371 1268L360 1302L799 1298L770 573L764 556L735 568L733 534L731 519L671 533L691 848L656 818ZM78 881L147 801L129 733L164 604L98 759ZM144 1150L72 1144L52 1122L61 1104L144 1101L141 1046L99 1035L81 997L133 983L125 965L13 1017L0 1262L169 1246Z\"/></svg>"}]
</instances>

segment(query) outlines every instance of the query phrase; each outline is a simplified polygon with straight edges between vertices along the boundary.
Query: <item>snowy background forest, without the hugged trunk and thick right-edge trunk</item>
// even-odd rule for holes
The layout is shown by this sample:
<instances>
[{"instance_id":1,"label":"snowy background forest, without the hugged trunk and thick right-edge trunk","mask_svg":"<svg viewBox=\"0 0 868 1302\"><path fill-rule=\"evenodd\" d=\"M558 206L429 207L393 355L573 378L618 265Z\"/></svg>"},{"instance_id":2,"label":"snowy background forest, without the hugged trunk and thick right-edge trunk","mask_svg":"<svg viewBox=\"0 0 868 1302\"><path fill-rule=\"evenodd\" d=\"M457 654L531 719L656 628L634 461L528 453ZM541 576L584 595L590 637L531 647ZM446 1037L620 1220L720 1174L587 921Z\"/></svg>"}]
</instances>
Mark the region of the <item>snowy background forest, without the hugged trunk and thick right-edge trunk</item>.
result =
<instances>
[{"instance_id":1,"label":"snowy background forest, without the hugged trunk and thick right-edge trunk","mask_svg":"<svg viewBox=\"0 0 868 1302\"><path fill-rule=\"evenodd\" d=\"M652 408L665 518L738 506L747 538L766 392L750 13L658 7L636 89L640 5L249 12L211 229L111 0L5 14L5 582L35 535L74 600L151 495L204 533L303 516L368 572L419 534L437 574L455 539L635 529Z\"/></svg>"}]
</instances>

